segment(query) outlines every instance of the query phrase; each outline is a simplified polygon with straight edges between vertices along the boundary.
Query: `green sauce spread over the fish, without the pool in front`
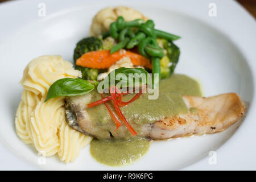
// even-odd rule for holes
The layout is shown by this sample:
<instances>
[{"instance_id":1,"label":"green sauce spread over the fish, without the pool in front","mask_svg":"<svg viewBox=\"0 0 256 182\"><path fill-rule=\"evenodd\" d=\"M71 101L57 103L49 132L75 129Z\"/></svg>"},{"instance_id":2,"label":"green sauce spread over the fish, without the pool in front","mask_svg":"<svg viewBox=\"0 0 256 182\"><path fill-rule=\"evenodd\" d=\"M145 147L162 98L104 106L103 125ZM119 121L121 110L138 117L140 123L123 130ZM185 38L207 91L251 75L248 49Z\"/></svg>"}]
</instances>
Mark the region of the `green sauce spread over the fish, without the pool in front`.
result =
<instances>
[{"instance_id":1,"label":"green sauce spread over the fish, without the pool in front","mask_svg":"<svg viewBox=\"0 0 256 182\"><path fill-rule=\"evenodd\" d=\"M101 99L100 94L96 91L91 92L91 94L93 94L91 102ZM159 96L156 100L148 100L148 93L146 93L142 94L138 100L120 109L129 122L134 122L138 125L152 123L164 117L187 113L188 109L182 99L182 95L201 96L200 85L188 76L172 75L160 81ZM133 96L134 94L123 96L123 101L129 101ZM111 121L108 110L103 104L87 110L94 122L106 124Z\"/></svg>"}]
</instances>

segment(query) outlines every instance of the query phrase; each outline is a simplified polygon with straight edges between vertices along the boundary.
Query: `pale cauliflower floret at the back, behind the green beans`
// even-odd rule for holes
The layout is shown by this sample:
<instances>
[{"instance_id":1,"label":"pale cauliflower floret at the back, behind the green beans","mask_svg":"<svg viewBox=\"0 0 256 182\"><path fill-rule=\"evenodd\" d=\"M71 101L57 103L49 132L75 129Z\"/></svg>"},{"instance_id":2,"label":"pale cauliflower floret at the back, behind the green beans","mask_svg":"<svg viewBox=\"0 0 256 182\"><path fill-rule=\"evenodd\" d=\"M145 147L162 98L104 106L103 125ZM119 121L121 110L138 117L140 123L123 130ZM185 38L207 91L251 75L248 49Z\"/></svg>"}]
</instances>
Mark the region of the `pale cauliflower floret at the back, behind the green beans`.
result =
<instances>
[{"instance_id":1,"label":"pale cauliflower floret at the back, behind the green beans","mask_svg":"<svg viewBox=\"0 0 256 182\"><path fill-rule=\"evenodd\" d=\"M118 16L123 16L126 21L132 21L139 18L144 20L148 19L139 13L139 11L130 7L107 7L94 16L92 25L90 26L90 36L98 36L108 31L110 24L117 20Z\"/></svg>"}]
</instances>

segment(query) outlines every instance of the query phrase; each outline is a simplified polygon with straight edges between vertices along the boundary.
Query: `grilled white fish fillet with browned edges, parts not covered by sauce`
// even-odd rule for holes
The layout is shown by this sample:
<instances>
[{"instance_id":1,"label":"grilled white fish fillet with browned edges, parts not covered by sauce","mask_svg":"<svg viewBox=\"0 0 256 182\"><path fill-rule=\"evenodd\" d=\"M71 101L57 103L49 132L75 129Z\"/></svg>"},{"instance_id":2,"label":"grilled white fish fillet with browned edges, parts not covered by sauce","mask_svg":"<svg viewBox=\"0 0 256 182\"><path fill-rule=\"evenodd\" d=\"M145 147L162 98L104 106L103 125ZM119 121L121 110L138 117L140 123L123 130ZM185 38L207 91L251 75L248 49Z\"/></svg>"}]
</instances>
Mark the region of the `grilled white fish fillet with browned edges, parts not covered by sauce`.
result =
<instances>
[{"instance_id":1,"label":"grilled white fish fillet with browned edges, parts not covered by sauce","mask_svg":"<svg viewBox=\"0 0 256 182\"><path fill-rule=\"evenodd\" d=\"M223 131L240 119L245 111L240 97L236 93L220 94L213 97L183 96L188 109L196 107L192 114L167 117L153 123L137 125L131 123L139 137L151 139L168 139L184 137L193 134L216 133ZM72 96L66 98L66 120L73 129L96 138L123 138L130 135L124 125L115 133L114 122L98 125L93 122L87 111L86 104L90 102L90 95Z\"/></svg>"}]
</instances>

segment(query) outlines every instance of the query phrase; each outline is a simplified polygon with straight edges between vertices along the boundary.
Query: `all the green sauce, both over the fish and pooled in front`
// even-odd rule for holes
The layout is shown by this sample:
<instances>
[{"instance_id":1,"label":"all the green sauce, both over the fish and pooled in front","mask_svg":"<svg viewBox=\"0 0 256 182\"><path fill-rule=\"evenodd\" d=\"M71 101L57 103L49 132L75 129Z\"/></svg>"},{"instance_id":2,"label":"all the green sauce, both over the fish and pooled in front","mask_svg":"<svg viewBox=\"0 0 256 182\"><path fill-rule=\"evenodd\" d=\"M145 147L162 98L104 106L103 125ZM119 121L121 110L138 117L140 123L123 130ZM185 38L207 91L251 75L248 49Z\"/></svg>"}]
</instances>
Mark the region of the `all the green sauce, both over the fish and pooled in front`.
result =
<instances>
[{"instance_id":1,"label":"all the green sauce, both over the fish and pooled in front","mask_svg":"<svg viewBox=\"0 0 256 182\"><path fill-rule=\"evenodd\" d=\"M101 99L97 92L91 92L91 94L93 94L91 102ZM188 108L181 97L182 95L202 96L200 85L188 76L172 75L160 81L158 99L148 100L148 94L142 94L138 100L121 107L121 110L129 122L137 123L137 127L133 125L133 128L138 132L140 130L139 125L144 123L152 123L157 119L187 113ZM134 94L123 96L123 101L129 101L133 96ZM196 112L195 109L189 109L189 111L192 114ZM88 114L98 125L106 127L108 123L108 127L115 129L115 124L111 120L105 105L102 104L88 109ZM128 130L127 136L129 136ZM102 164L121 166L133 163L146 154L149 146L150 142L148 140L137 137L129 140L93 139L90 144L90 153L94 159Z\"/></svg>"}]
</instances>

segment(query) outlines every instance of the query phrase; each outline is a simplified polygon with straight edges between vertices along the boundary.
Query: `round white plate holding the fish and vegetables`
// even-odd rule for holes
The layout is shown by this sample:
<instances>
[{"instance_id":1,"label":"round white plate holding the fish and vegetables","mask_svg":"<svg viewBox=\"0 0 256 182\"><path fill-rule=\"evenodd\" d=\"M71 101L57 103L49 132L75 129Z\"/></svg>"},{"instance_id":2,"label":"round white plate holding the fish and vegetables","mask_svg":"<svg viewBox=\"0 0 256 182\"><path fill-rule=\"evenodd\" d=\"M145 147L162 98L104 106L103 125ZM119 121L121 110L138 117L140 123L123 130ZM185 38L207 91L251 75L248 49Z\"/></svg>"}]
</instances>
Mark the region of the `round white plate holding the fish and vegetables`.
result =
<instances>
[{"instance_id":1,"label":"round white plate holding the fish and vegetables","mask_svg":"<svg viewBox=\"0 0 256 182\"><path fill-rule=\"evenodd\" d=\"M46 5L46 17L38 16L40 2ZM217 5L216 17L208 15L212 2ZM39 165L34 148L15 133L15 112L22 91L18 82L23 69L40 55L62 55L72 61L75 44L88 36L93 15L110 5L134 7L152 18L157 28L181 35L176 42L181 49L176 73L198 78L205 96L240 94L250 105L242 125L238 128L237 122L212 135L153 142L141 160L125 167L97 163L89 155L89 146L73 163L64 164L53 156ZM106 5L106 1L15 1L0 5L0 24L0 169L256 169L256 24L236 2L108 1ZM216 151L216 165L208 163L212 150Z\"/></svg>"}]
</instances>

